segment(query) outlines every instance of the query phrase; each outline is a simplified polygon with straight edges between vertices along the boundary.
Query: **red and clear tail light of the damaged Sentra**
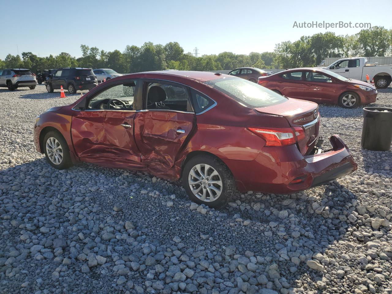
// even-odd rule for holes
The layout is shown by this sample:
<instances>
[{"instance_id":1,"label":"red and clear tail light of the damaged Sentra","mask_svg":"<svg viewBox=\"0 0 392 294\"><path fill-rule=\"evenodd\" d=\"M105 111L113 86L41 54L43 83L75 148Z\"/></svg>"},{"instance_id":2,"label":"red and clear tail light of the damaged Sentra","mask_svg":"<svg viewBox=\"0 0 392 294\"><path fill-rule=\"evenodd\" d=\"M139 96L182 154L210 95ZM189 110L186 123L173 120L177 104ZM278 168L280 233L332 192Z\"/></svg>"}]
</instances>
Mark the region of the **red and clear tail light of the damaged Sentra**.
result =
<instances>
[{"instance_id":1,"label":"red and clear tail light of the damaged Sentra","mask_svg":"<svg viewBox=\"0 0 392 294\"><path fill-rule=\"evenodd\" d=\"M303 127L285 127L276 129L248 128L249 131L265 140L265 146L285 146L297 143L305 138Z\"/></svg>"}]
</instances>

